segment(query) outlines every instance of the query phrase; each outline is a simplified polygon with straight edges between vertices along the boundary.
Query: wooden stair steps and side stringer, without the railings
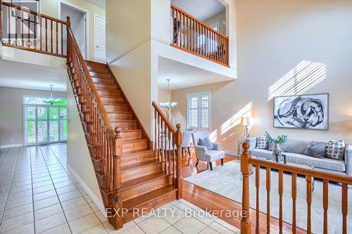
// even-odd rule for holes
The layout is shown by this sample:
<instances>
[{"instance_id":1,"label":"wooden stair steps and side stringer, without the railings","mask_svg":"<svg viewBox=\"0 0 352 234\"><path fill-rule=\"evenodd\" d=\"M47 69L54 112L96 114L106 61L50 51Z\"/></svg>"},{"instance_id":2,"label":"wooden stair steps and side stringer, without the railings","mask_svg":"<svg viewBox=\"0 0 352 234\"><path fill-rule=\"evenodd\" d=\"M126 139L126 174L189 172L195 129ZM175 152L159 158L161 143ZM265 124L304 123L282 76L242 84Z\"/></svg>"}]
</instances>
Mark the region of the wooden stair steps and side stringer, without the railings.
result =
<instances>
[{"instance_id":1,"label":"wooden stair steps and side stringer, without the railings","mask_svg":"<svg viewBox=\"0 0 352 234\"><path fill-rule=\"evenodd\" d=\"M160 150L153 149L153 143L146 134L125 93L115 79L108 65L85 61L87 70L92 77L96 93L98 93L103 109L106 111L111 128L118 131L122 140L120 156L120 188L118 200L122 202L122 223L138 218L143 212L161 207L178 197L175 183L176 173L169 173L168 163L160 155ZM82 120L84 134L91 154L96 178L99 181L101 195L106 207L113 207L113 190L107 190L109 173L103 167L104 157L99 155L101 139L93 133L91 113L87 111L86 99L80 93L80 82L76 77L75 65L68 59L68 74ZM155 145L155 144L154 144ZM175 161L174 161L175 162ZM136 215L138 214L138 215ZM120 228L118 222L111 220L115 228Z\"/></svg>"}]
</instances>

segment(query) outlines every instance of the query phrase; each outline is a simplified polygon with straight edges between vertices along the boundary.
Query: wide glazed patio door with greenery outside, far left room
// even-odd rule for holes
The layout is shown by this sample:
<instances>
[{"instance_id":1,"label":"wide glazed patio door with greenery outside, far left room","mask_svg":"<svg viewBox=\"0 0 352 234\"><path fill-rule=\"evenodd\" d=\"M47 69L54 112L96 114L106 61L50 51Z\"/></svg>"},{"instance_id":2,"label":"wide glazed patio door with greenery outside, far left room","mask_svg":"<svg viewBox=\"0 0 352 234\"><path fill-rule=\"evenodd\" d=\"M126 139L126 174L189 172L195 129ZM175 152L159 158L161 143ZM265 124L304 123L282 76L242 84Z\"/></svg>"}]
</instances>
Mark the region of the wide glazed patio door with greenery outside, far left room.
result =
<instances>
[{"instance_id":1,"label":"wide glazed patio door with greenery outside, far left room","mask_svg":"<svg viewBox=\"0 0 352 234\"><path fill-rule=\"evenodd\" d=\"M25 145L67 141L66 103L65 98L23 97Z\"/></svg>"}]
</instances>

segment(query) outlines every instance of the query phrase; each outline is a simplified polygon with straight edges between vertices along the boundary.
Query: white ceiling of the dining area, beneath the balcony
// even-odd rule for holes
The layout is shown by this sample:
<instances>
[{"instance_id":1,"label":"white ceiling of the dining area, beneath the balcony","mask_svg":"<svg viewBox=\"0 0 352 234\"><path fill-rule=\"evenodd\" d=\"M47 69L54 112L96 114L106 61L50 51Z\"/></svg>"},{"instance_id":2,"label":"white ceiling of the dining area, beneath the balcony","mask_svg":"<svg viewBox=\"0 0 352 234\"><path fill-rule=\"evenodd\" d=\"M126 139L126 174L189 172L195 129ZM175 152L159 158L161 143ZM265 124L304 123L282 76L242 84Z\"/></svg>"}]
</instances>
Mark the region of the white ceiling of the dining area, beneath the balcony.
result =
<instances>
[{"instance_id":1,"label":"white ceiling of the dining area, beneath the balcony","mask_svg":"<svg viewBox=\"0 0 352 234\"><path fill-rule=\"evenodd\" d=\"M225 77L221 74L209 72L168 58L159 57L158 89L168 89L167 79L170 79L170 90L234 80L233 78Z\"/></svg>"}]
</instances>

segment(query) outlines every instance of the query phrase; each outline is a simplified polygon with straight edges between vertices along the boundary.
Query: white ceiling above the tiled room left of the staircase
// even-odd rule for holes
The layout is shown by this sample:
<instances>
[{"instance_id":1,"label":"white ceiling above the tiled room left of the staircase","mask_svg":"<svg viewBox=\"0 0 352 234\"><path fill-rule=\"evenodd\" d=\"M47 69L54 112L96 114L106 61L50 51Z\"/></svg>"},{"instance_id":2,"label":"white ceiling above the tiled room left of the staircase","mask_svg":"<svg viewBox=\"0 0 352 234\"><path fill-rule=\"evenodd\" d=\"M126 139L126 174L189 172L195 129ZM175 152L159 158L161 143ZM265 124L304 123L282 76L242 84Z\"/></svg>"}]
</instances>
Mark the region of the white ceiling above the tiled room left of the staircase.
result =
<instances>
[{"instance_id":1,"label":"white ceiling above the tiled room left of the staircase","mask_svg":"<svg viewBox=\"0 0 352 234\"><path fill-rule=\"evenodd\" d=\"M19 89L66 91L67 72L64 68L18 63L0 58L0 86Z\"/></svg>"}]
</instances>

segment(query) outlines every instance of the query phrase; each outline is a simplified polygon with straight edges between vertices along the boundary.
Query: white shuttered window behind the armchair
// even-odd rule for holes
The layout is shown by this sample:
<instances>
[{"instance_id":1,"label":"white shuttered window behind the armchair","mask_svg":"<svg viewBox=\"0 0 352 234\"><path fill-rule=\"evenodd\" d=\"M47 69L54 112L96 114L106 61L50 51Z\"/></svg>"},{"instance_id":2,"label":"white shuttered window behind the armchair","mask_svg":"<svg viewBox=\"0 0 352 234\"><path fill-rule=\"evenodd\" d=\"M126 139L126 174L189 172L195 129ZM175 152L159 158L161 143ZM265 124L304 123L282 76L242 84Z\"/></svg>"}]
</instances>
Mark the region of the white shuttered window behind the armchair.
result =
<instances>
[{"instance_id":1,"label":"white shuttered window behind the armchair","mask_svg":"<svg viewBox=\"0 0 352 234\"><path fill-rule=\"evenodd\" d=\"M210 131L210 92L187 95L187 127Z\"/></svg>"}]
</instances>

